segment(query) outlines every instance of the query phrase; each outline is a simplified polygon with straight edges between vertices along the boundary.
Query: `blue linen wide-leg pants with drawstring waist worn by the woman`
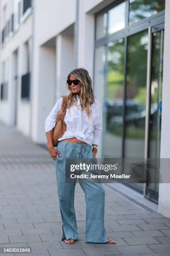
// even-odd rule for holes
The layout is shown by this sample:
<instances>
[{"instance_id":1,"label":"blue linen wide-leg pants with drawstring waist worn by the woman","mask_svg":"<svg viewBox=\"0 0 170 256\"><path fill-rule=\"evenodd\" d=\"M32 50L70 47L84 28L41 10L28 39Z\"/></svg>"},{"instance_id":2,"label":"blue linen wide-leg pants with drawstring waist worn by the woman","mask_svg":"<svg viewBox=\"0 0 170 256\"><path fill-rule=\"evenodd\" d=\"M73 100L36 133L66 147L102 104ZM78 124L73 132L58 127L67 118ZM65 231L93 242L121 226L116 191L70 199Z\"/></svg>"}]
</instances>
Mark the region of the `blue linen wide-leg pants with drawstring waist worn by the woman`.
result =
<instances>
[{"instance_id":1,"label":"blue linen wide-leg pants with drawstring waist worn by the woman","mask_svg":"<svg viewBox=\"0 0 170 256\"><path fill-rule=\"evenodd\" d=\"M93 158L92 149L89 144L60 141L57 144L57 150L62 155L57 155L55 159L57 190L62 217L63 235L61 241L65 238L78 240L74 208L76 183L65 182L65 158ZM102 183L83 181L79 183L85 193L86 201L85 241L106 243L108 239L104 227L105 190L102 187Z\"/></svg>"}]
</instances>

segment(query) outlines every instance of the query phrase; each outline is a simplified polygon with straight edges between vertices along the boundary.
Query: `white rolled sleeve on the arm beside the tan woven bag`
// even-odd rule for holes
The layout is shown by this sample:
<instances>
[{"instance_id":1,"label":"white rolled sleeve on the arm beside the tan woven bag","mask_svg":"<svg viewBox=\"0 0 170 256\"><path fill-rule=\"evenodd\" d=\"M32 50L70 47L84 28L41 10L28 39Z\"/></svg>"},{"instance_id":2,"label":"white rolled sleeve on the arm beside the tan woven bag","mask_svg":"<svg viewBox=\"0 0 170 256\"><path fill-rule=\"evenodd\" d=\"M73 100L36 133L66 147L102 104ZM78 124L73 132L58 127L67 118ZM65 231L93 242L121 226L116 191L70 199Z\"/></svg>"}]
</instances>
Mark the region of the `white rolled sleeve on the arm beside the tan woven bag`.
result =
<instances>
[{"instance_id":1,"label":"white rolled sleeve on the arm beside the tan woven bag","mask_svg":"<svg viewBox=\"0 0 170 256\"><path fill-rule=\"evenodd\" d=\"M51 131L55 127L55 121L57 120L57 112L60 111L62 104L62 97L55 103L55 106L52 108L50 114L45 120L45 134L47 131Z\"/></svg>"}]
</instances>

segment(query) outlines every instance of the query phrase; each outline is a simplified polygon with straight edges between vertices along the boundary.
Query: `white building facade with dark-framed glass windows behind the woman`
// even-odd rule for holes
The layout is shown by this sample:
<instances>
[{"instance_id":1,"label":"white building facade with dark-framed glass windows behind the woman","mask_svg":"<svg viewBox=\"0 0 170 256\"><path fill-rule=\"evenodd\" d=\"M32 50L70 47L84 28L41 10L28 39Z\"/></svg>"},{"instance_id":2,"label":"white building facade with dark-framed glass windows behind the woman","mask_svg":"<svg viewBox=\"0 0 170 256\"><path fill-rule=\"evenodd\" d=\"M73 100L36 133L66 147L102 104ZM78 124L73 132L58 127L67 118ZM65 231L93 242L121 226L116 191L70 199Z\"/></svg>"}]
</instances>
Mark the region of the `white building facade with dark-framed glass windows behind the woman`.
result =
<instances>
[{"instance_id":1,"label":"white building facade with dark-framed glass windows behind the woman","mask_svg":"<svg viewBox=\"0 0 170 256\"><path fill-rule=\"evenodd\" d=\"M46 143L67 74L84 67L103 110L97 157L170 158L168 0L0 0L0 17L2 122ZM159 173L126 185L170 217Z\"/></svg>"}]
</instances>

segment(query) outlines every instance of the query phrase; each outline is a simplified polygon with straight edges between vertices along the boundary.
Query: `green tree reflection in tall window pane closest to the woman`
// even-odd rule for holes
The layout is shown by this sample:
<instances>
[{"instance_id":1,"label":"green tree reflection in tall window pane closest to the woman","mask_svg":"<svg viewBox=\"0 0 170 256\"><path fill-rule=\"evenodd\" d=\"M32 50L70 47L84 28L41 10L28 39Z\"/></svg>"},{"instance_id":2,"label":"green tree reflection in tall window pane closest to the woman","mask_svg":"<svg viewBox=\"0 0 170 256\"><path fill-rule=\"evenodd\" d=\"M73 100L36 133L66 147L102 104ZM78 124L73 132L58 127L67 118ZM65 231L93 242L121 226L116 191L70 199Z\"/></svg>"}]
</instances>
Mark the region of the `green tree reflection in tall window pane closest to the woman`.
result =
<instances>
[{"instance_id":1,"label":"green tree reflection in tall window pane closest to the woman","mask_svg":"<svg viewBox=\"0 0 170 256\"><path fill-rule=\"evenodd\" d=\"M107 54L107 121L105 155L121 157L124 83L124 39L110 43Z\"/></svg>"}]
</instances>

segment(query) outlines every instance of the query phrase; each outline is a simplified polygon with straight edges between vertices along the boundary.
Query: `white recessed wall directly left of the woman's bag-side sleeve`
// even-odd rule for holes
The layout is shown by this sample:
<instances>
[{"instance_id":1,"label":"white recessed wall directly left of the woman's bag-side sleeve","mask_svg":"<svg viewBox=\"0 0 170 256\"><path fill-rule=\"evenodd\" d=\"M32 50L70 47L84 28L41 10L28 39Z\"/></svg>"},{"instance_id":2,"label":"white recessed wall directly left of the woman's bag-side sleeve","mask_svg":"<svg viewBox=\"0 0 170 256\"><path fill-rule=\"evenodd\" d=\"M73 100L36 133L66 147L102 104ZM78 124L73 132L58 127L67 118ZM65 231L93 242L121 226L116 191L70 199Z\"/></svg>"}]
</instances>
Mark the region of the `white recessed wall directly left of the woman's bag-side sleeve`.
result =
<instances>
[{"instance_id":1,"label":"white recessed wall directly left of the woman's bag-side sleeve","mask_svg":"<svg viewBox=\"0 0 170 256\"><path fill-rule=\"evenodd\" d=\"M44 123L55 104L55 47L41 46L39 49L38 99L36 141L45 136ZM34 108L32 109L34 111Z\"/></svg>"}]
</instances>

